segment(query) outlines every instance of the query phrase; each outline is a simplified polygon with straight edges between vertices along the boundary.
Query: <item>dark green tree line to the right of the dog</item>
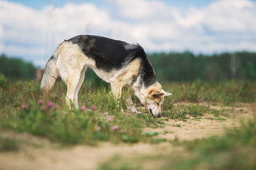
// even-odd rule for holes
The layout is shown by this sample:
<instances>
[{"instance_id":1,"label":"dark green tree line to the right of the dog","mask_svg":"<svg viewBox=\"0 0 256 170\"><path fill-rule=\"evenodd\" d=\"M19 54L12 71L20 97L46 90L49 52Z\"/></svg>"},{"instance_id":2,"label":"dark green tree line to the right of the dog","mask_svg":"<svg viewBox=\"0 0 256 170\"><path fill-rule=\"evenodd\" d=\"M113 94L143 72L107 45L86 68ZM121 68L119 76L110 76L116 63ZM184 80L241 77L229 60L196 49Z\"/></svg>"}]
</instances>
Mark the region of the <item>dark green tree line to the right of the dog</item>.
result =
<instances>
[{"instance_id":1,"label":"dark green tree line to the right of the dog","mask_svg":"<svg viewBox=\"0 0 256 170\"><path fill-rule=\"evenodd\" d=\"M256 53L234 52L212 55L191 52L148 54L160 81L256 80Z\"/></svg>"}]
</instances>

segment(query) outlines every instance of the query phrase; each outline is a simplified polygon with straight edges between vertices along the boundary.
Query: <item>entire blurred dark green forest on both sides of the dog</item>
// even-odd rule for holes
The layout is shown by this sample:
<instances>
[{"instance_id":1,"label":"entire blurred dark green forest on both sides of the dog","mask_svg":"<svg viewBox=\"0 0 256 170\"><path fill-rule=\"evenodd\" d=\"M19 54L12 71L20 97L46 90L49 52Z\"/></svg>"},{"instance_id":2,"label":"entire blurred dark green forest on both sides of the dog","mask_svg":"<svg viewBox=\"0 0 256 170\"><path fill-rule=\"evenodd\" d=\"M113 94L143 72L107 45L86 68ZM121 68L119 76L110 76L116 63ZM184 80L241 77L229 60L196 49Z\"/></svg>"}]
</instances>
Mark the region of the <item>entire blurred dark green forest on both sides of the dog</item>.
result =
<instances>
[{"instance_id":1,"label":"entire blurred dark green forest on both sides of the dog","mask_svg":"<svg viewBox=\"0 0 256 170\"><path fill-rule=\"evenodd\" d=\"M213 55L183 53L149 53L159 81L220 81L256 80L256 53L236 52ZM0 56L0 73L10 79L31 80L36 67L22 59ZM98 81L91 69L86 71L86 80ZM96 83L96 82L95 82Z\"/></svg>"}]
</instances>

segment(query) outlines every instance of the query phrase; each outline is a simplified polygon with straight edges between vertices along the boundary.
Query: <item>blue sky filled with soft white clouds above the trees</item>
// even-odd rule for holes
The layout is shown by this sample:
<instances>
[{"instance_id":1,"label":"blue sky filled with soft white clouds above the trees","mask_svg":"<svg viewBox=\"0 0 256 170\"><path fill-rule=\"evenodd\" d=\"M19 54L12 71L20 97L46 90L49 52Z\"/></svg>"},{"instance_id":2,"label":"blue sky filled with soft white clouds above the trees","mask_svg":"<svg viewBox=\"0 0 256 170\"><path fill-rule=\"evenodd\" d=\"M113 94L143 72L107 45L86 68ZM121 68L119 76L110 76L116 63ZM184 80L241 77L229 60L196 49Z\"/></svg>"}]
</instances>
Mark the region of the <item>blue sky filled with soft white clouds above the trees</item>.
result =
<instances>
[{"instance_id":1,"label":"blue sky filled with soft white clouds above the trees","mask_svg":"<svg viewBox=\"0 0 256 170\"><path fill-rule=\"evenodd\" d=\"M256 51L252 0L0 0L0 53L44 67L79 34L140 43L147 53Z\"/></svg>"}]
</instances>

